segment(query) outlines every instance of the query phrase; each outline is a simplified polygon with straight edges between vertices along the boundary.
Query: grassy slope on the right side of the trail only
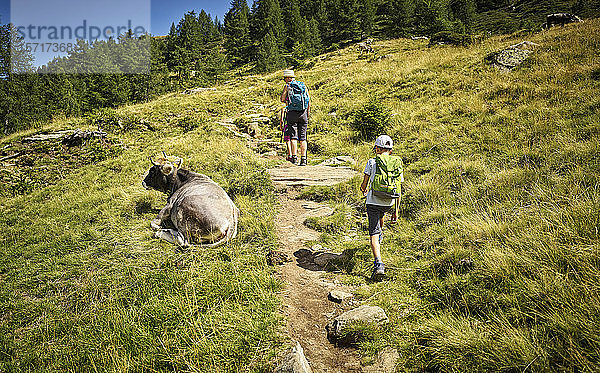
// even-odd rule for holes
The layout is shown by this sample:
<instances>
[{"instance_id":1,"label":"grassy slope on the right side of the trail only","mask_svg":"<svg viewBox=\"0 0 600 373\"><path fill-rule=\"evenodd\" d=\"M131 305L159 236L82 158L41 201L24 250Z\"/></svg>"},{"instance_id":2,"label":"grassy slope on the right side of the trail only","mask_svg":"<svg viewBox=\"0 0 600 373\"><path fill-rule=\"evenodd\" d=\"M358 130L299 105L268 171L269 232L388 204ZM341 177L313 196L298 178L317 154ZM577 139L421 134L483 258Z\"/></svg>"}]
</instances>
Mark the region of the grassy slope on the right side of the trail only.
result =
<instances>
[{"instance_id":1,"label":"grassy slope on the right side of the trail only","mask_svg":"<svg viewBox=\"0 0 600 373\"><path fill-rule=\"evenodd\" d=\"M540 47L511 73L482 61L523 36L385 42L381 62L341 53L304 74L320 149L370 156L348 127L372 95L406 162L404 218L383 245L390 280L365 280L364 241L340 247L357 250L347 281L392 318L363 352L392 345L414 371L600 369L599 27L527 36ZM360 205L355 192L312 192Z\"/></svg>"}]
</instances>

